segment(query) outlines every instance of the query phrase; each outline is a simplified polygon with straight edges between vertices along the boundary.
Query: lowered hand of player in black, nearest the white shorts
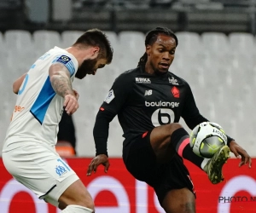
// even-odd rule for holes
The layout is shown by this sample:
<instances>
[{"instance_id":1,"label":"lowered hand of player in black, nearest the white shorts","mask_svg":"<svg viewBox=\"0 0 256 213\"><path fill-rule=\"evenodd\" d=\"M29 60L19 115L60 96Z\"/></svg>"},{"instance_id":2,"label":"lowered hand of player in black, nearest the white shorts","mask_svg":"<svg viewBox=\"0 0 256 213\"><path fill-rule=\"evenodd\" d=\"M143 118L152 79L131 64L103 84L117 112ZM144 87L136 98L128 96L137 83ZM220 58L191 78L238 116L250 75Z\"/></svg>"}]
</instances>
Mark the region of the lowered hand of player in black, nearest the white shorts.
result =
<instances>
[{"instance_id":1,"label":"lowered hand of player in black, nearest the white shorts","mask_svg":"<svg viewBox=\"0 0 256 213\"><path fill-rule=\"evenodd\" d=\"M108 168L110 166L107 155L99 154L95 158L93 158L90 161L90 164L88 166L88 170L87 170L86 176L90 176L92 171L94 171L94 173L96 173L97 167L100 164L102 164L105 167L104 171L107 173L108 172Z\"/></svg>"}]
</instances>

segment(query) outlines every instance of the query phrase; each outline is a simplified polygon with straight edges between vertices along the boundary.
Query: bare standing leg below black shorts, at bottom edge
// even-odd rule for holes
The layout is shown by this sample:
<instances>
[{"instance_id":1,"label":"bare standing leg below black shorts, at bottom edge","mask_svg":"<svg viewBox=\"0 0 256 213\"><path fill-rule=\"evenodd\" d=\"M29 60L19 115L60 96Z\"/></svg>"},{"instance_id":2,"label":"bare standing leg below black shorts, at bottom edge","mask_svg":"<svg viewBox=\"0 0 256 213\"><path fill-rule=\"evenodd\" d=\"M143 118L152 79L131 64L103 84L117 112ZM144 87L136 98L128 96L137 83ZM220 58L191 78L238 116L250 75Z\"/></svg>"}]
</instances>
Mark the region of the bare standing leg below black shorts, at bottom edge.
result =
<instances>
[{"instance_id":1,"label":"bare standing leg below black shorts, at bottom edge","mask_svg":"<svg viewBox=\"0 0 256 213\"><path fill-rule=\"evenodd\" d=\"M166 213L195 213L195 195L186 187L172 189L162 202Z\"/></svg>"}]
</instances>

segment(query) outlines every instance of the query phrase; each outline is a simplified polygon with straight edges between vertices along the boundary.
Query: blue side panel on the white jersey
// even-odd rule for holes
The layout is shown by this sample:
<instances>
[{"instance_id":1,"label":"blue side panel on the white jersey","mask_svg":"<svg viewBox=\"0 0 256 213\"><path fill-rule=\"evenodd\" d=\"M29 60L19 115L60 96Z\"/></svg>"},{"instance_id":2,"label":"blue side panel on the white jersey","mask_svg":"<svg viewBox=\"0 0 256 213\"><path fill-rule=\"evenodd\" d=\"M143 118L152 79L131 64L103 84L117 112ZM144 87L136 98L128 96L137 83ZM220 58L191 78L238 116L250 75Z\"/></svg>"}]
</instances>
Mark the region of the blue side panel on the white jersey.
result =
<instances>
[{"instance_id":1,"label":"blue side panel on the white jersey","mask_svg":"<svg viewBox=\"0 0 256 213\"><path fill-rule=\"evenodd\" d=\"M52 101L54 96L55 90L52 88L48 77L38 95L37 100L34 102L30 110L32 115L40 122L40 124L43 124L45 113L49 107L50 101Z\"/></svg>"}]
</instances>

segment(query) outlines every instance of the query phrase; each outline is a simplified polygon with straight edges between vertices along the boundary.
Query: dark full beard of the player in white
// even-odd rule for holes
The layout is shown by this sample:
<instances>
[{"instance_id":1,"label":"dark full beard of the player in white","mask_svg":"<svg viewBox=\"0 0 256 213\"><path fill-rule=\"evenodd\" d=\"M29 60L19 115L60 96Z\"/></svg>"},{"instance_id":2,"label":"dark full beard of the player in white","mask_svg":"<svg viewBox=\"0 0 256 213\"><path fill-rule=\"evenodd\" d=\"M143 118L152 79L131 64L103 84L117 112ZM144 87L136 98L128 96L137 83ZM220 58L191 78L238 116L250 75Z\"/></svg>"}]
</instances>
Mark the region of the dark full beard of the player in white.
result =
<instances>
[{"instance_id":1,"label":"dark full beard of the player in white","mask_svg":"<svg viewBox=\"0 0 256 213\"><path fill-rule=\"evenodd\" d=\"M75 77L82 79L87 74L94 74L96 70L96 63L97 63L97 59L84 60L81 66L79 66L79 69L75 74Z\"/></svg>"}]
</instances>

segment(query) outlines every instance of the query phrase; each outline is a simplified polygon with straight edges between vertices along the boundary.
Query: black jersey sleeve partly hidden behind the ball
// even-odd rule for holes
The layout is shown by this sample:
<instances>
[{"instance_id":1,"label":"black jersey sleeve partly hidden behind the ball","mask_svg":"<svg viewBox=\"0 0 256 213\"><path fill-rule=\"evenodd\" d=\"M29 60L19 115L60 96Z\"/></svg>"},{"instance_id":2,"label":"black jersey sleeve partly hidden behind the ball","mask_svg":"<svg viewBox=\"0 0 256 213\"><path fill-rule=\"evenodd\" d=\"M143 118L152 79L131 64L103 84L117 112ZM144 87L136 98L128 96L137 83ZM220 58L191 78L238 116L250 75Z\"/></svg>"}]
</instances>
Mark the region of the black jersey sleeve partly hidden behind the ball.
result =
<instances>
[{"instance_id":1,"label":"black jersey sleeve partly hidden behind the ball","mask_svg":"<svg viewBox=\"0 0 256 213\"><path fill-rule=\"evenodd\" d=\"M185 123L188 125L190 130L193 130L197 124L201 124L202 122L208 121L207 118L204 118L199 112L198 108L195 104L195 98L192 93L192 90L188 84L188 95L186 97L182 117ZM230 141L235 141L229 135L227 135L227 144L230 147Z\"/></svg>"}]
</instances>

